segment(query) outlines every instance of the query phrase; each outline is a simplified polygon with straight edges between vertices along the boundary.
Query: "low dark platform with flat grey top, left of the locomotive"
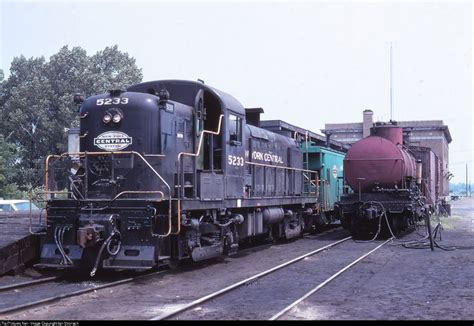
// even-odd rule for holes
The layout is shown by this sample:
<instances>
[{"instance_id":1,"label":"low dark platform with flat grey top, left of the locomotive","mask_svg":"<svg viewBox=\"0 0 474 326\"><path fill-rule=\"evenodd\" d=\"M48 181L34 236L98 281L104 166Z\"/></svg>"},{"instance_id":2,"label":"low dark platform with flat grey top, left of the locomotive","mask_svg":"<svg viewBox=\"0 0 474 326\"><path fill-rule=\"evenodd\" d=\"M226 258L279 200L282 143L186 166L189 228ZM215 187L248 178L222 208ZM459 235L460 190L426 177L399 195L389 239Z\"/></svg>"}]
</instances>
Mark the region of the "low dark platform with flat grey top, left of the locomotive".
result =
<instances>
[{"instance_id":1,"label":"low dark platform with flat grey top, left of the locomotive","mask_svg":"<svg viewBox=\"0 0 474 326\"><path fill-rule=\"evenodd\" d=\"M38 215L33 217L33 225ZM17 274L39 257L39 236L30 234L28 213L0 213L0 275ZM43 229L33 227L33 232Z\"/></svg>"}]
</instances>

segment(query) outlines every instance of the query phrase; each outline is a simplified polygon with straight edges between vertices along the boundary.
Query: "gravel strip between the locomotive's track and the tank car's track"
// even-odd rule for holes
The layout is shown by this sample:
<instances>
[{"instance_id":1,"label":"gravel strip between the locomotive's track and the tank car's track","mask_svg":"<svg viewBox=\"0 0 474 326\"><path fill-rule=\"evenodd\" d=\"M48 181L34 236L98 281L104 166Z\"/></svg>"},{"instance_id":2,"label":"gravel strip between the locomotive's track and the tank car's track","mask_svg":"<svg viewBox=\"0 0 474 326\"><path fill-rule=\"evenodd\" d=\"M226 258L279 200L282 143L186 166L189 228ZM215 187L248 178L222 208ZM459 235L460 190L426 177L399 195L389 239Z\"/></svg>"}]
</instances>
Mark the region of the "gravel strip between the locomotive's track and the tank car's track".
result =
<instances>
[{"instance_id":1,"label":"gravel strip between the locomotive's track and the tank car's track","mask_svg":"<svg viewBox=\"0 0 474 326\"><path fill-rule=\"evenodd\" d=\"M157 277L67 298L0 318L150 319L348 235L345 230L335 229L325 235L307 236L289 243L183 266Z\"/></svg>"}]
</instances>

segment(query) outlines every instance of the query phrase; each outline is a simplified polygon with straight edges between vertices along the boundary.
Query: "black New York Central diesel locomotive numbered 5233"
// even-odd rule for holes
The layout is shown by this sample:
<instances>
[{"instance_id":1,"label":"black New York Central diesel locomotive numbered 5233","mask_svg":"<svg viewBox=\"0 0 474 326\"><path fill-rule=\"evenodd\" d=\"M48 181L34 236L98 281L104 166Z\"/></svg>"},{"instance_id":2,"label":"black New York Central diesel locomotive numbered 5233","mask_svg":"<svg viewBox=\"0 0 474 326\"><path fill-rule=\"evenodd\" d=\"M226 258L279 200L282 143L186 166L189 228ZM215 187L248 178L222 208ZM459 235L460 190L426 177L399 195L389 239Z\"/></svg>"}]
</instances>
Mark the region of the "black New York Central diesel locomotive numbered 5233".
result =
<instances>
[{"instance_id":1,"label":"black New York Central diesel locomotive numbered 5233","mask_svg":"<svg viewBox=\"0 0 474 326\"><path fill-rule=\"evenodd\" d=\"M232 96L164 80L77 103L79 151L46 161L39 266L174 266L313 228L318 176L299 143Z\"/></svg>"}]
</instances>

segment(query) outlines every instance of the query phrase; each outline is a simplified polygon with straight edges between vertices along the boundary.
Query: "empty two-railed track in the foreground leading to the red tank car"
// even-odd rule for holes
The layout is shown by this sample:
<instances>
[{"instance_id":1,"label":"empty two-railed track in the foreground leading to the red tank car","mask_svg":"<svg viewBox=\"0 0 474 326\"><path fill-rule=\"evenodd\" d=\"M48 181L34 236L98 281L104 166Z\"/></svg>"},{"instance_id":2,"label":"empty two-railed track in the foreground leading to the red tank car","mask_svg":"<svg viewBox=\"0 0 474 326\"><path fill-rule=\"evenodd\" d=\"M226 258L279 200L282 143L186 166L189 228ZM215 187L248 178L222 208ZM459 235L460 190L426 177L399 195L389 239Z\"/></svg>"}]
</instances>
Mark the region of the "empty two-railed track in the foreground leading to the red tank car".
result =
<instances>
[{"instance_id":1,"label":"empty two-railed track in the foreground leading to the red tank car","mask_svg":"<svg viewBox=\"0 0 474 326\"><path fill-rule=\"evenodd\" d=\"M201 297L200 299L197 299L197 300L194 300L190 303L187 303L185 305L183 305L181 308L179 309L176 309L170 313L167 313L167 314L164 314L164 315L160 315L160 316L157 316L157 317L154 317L152 318L151 320L165 320L165 319L179 319L180 316L184 316L183 319L192 319L192 316L195 314L195 312L199 312L199 311L203 311L204 314L205 314L205 307L206 307L206 304L209 304L211 301L213 301L214 299L216 299L217 297L220 297L219 298L219 305L222 307L223 309L223 313L222 315L226 315L225 319L228 319L228 315L225 313L225 311L234 311L233 313L235 313L235 310L236 310L236 306L239 305L239 303L235 303L236 302L236 299L238 300L238 297L244 297L246 298L245 300L250 302L247 304L247 306L251 306L253 304L255 304L256 306L258 306L258 302L259 300L260 301L272 301L274 302L275 304L279 304L279 301L282 301L280 300L280 298L278 298L277 296L273 295L273 296L269 296L269 297L265 297L265 295L263 294L264 291L267 291L267 290L263 290L264 288L265 289L268 289L269 287L271 287L271 285L269 285L269 282L264 282L262 279L264 279L265 277L269 276L270 274L273 274L279 270L282 270L283 268L285 267L289 267L291 265L294 265L300 261L303 261L305 259L307 259L308 257L310 256L313 256L313 255L316 255L318 253L321 253L323 251L326 251L332 247L335 247L339 244L342 244L348 240L352 239L351 237L347 237L347 238L344 238L344 239L341 239L339 241L336 241L336 242L333 242L327 246L324 246L322 248L319 248L317 250L314 250L314 251L311 251L307 254L304 254L302 256L299 256L295 259L292 259L286 263L283 263L283 264L280 264L276 267L273 267L269 270L266 270L264 272L261 272L255 276L252 276L252 277L249 277L247 279L244 279L242 281L239 281L237 283L234 283L230 286L227 286L226 288L224 289L221 289L219 291L216 291L216 292L213 292L211 294L208 294L204 297ZM337 278L339 275L341 275L342 273L344 273L345 271L347 271L348 269L350 269L351 267L353 267L354 265L356 265L358 262L360 262L361 260L363 260L364 258L366 258L367 256L371 255L372 253L374 253L375 251L377 251L378 249L380 249L382 246L384 246L385 244L387 244L388 242L390 242L392 240L392 238L384 241L383 243L379 244L376 248L370 250L369 252L359 256L357 259L353 260L351 263L349 263L348 265L344 266L342 269L339 269L336 273L332 274L329 278L326 278L323 282L319 283L315 288L313 288L311 291L307 292L305 295L301 296L301 297L298 297L297 300L294 300L291 304L285 304L285 308L279 310L278 312L276 313L273 313L272 316L269 318L270 320L275 320L275 319L279 319L281 318L282 316L284 316L285 314L287 314L289 311L291 311L294 307L296 307L298 304L300 304L301 302L303 302L306 298L308 298L309 296L311 296L312 294L314 294L315 292L317 292L319 289L321 289L322 287L324 287L326 284L328 284L329 282L331 282L332 280L334 280L335 278ZM358 244L358 246L360 246L361 244ZM367 244L366 244L367 245ZM324 266L322 266L321 268L324 268ZM298 275L298 273L296 273L296 275ZM262 288L262 291L259 290L259 284L258 282L261 282L262 284L260 285L260 287ZM278 282L274 282L273 283L275 287L279 287L281 283L278 283ZM243 286L246 285L247 287L244 288ZM296 286L296 284L294 285ZM256 287L255 289L251 289L249 290L250 292L254 292L254 296L253 297L250 297L250 295L248 295L247 293L245 293L245 291L247 291L248 288L251 288L251 287ZM239 292L239 293L235 293L237 291L234 291L234 290L237 290L237 289L241 289L243 292ZM287 295L288 293L284 293L285 295ZM226 296L229 296L228 299L226 299ZM262 297L262 298L255 298L256 296L258 297ZM226 301L229 301L230 303L228 305L225 304ZM284 301L284 300L283 300ZM234 305L234 306L232 306ZM243 305L246 305L246 303L244 303ZM193 309L194 308L194 309ZM212 310L215 310L215 307L212 306L210 309L207 309L207 311L211 311L212 313ZM245 309L245 308L242 308L242 309ZM218 310L218 309L217 309ZM215 313L215 312L213 312ZM248 318L248 315L246 315L247 312L245 312L244 314L242 315L239 315L237 318L238 319L245 319L246 317ZM249 313L249 315L251 315L251 313ZM189 316L191 316L191 318L189 318ZM262 315L261 314L258 314L257 313L253 313L253 315L251 316L255 316L256 319L262 319ZM203 318L206 318L206 319L217 319L215 316L213 317L209 317L209 316L205 316Z\"/></svg>"}]
</instances>

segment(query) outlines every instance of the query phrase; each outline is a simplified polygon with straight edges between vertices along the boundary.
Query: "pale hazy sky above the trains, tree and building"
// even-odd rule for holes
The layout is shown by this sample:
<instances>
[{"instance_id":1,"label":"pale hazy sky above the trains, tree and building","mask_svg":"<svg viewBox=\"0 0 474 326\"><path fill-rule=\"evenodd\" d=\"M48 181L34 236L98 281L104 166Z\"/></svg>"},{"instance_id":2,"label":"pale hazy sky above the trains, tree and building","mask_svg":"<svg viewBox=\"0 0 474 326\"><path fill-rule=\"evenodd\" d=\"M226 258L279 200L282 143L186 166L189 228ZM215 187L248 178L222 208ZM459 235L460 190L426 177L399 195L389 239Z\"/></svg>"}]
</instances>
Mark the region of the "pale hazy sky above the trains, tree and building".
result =
<instances>
[{"instance_id":1,"label":"pale hazy sky above the trains, tree and building","mask_svg":"<svg viewBox=\"0 0 474 326\"><path fill-rule=\"evenodd\" d=\"M202 79L318 133L325 123L443 120L454 182L474 173L472 5L464 2L0 0L0 69L64 45L117 44L144 81Z\"/></svg>"}]
</instances>

